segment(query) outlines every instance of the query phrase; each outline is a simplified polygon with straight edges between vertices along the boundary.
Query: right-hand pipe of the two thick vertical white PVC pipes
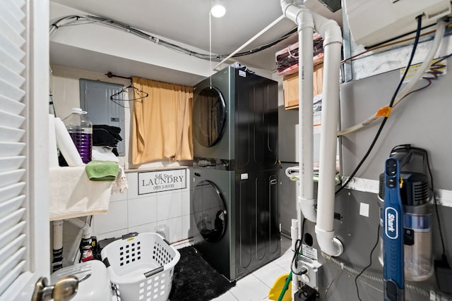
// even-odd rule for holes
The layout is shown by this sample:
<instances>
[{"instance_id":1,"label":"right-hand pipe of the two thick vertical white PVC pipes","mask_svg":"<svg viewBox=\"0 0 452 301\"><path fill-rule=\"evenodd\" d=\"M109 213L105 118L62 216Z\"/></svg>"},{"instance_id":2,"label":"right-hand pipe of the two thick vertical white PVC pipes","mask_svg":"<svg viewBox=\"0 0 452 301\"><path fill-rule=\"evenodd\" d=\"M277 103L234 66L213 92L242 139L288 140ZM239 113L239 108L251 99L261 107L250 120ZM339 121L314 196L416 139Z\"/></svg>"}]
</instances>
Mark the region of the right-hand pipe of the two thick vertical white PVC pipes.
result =
<instances>
[{"instance_id":1,"label":"right-hand pipe of the two thick vertical white PVC pipes","mask_svg":"<svg viewBox=\"0 0 452 301\"><path fill-rule=\"evenodd\" d=\"M336 149L339 116L339 76L342 32L339 25L312 13L316 32L323 37L322 126L320 133L319 192L317 195L316 236L321 250L331 256L343 252L342 243L334 237L334 202Z\"/></svg>"}]
</instances>

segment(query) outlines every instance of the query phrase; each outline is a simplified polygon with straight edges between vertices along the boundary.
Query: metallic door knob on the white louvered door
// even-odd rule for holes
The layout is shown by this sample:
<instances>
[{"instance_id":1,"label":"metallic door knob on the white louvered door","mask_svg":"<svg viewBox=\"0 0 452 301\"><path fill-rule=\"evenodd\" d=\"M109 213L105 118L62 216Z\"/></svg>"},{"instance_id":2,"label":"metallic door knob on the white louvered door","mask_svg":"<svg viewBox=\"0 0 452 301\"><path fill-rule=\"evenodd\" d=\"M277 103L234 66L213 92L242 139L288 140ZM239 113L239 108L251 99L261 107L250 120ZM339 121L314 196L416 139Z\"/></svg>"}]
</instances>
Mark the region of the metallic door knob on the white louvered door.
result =
<instances>
[{"instance_id":1,"label":"metallic door knob on the white louvered door","mask_svg":"<svg viewBox=\"0 0 452 301\"><path fill-rule=\"evenodd\" d=\"M64 276L55 285L49 285L47 278L41 277L35 284L32 301L69 301L78 290L78 278L76 276Z\"/></svg>"}]
</instances>

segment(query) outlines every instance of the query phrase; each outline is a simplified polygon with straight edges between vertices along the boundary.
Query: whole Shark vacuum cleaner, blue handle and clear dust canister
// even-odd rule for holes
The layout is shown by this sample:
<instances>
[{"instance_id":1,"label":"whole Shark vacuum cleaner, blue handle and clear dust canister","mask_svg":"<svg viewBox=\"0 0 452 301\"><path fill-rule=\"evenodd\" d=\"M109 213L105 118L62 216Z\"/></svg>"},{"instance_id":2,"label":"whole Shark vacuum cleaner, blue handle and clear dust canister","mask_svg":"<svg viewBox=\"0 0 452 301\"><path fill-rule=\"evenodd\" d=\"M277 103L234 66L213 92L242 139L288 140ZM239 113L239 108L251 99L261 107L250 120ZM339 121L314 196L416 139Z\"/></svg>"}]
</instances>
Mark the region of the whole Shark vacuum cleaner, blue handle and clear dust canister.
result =
<instances>
[{"instance_id":1,"label":"whole Shark vacuum cleaner, blue handle and clear dust canister","mask_svg":"<svg viewBox=\"0 0 452 301\"><path fill-rule=\"evenodd\" d=\"M384 300L405 300L405 279L424 281L432 264L432 193L427 152L400 145L380 175Z\"/></svg>"}]
</instances>

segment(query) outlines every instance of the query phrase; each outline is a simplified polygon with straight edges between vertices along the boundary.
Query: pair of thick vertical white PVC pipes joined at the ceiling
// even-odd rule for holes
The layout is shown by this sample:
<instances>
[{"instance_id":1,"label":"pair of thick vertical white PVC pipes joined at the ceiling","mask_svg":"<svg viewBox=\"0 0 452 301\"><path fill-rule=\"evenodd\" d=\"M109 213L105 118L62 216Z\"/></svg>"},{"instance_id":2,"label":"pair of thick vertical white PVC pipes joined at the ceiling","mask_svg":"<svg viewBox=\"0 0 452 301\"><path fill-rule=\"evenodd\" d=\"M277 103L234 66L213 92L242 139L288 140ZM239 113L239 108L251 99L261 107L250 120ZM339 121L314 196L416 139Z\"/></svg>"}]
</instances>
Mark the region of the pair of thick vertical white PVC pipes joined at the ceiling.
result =
<instances>
[{"instance_id":1,"label":"pair of thick vertical white PVC pipes joined at the ceiling","mask_svg":"<svg viewBox=\"0 0 452 301\"><path fill-rule=\"evenodd\" d=\"M280 4L284 16L298 25L299 53L302 54L299 61L299 209L306 219L316 222L316 238L321 251L337 257L343 252L343 245L335 238L333 228L342 32L334 20L313 13L296 1L281 0ZM313 179L314 30L323 37L324 51L317 209ZM300 224L301 216L299 212L297 214Z\"/></svg>"}]
</instances>

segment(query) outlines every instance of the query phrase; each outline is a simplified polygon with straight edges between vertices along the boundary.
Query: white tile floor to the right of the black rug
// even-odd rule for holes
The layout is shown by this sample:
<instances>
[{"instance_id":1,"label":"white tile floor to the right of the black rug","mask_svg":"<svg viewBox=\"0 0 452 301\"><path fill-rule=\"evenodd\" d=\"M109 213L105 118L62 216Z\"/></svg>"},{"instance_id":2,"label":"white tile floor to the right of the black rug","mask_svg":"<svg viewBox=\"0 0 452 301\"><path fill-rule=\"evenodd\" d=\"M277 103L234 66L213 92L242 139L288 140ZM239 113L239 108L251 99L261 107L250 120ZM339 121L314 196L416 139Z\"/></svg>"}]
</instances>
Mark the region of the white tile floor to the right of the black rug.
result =
<instances>
[{"instance_id":1,"label":"white tile floor to the right of the black rug","mask_svg":"<svg viewBox=\"0 0 452 301\"><path fill-rule=\"evenodd\" d=\"M290 238L281 235L281 256L261 267L251 274L240 278L236 285L227 293L216 297L213 301L261 301L268 299L268 292L276 279L289 273L292 251L290 251ZM184 242L174 247L182 248L189 245Z\"/></svg>"}]
</instances>

